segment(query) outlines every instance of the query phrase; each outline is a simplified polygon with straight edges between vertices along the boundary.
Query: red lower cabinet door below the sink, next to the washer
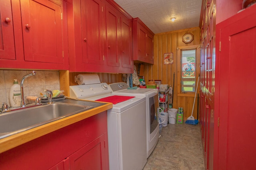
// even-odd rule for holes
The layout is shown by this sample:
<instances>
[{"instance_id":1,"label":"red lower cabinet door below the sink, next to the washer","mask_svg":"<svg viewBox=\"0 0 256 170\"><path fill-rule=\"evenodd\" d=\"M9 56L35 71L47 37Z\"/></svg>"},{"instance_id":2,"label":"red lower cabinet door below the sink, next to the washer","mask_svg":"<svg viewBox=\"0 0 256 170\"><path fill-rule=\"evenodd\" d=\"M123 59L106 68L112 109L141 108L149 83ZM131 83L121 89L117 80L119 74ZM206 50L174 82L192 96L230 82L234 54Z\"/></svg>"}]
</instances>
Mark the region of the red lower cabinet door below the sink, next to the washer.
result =
<instances>
[{"instance_id":1,"label":"red lower cabinet door below the sink, next to the washer","mask_svg":"<svg viewBox=\"0 0 256 170\"><path fill-rule=\"evenodd\" d=\"M69 164L70 170L106 170L108 162L106 162L104 134L76 151L68 157L69 161L64 162L64 166ZM66 167L66 166L65 166Z\"/></svg>"}]
</instances>

